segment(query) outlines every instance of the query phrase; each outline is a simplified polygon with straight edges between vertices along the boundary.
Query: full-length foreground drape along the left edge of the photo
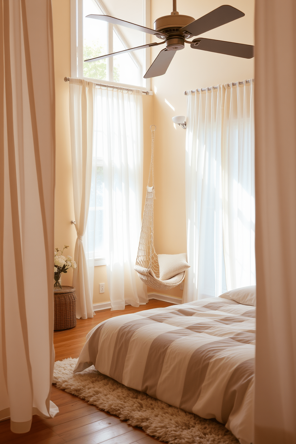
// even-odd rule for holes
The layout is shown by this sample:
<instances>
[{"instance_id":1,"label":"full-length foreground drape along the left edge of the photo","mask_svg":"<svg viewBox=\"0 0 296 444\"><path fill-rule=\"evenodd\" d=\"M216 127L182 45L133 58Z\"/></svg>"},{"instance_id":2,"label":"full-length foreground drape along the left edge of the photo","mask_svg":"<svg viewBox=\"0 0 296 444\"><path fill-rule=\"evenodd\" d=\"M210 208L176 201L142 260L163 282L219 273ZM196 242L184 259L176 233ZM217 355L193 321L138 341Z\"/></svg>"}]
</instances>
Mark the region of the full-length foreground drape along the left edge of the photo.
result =
<instances>
[{"instance_id":1,"label":"full-length foreground drape along the left edge of the photo","mask_svg":"<svg viewBox=\"0 0 296 444\"><path fill-rule=\"evenodd\" d=\"M59 411L50 401L54 190L51 1L1 0L0 419L16 433L32 415Z\"/></svg>"}]
</instances>

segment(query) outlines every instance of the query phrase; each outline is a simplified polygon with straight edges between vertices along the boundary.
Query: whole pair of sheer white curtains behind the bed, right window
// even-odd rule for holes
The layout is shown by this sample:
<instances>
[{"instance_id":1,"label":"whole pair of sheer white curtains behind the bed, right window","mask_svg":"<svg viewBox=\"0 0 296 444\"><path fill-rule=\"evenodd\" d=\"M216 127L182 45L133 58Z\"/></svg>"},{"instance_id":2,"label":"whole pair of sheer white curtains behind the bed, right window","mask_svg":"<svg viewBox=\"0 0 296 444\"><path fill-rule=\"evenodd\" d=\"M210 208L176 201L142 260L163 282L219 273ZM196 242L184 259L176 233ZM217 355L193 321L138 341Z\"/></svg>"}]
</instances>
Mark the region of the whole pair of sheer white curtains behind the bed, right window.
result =
<instances>
[{"instance_id":1,"label":"whole pair of sheer white curtains behind the bed, right window","mask_svg":"<svg viewBox=\"0 0 296 444\"><path fill-rule=\"evenodd\" d=\"M187 94L183 302L256 283L252 80Z\"/></svg>"}]
</instances>

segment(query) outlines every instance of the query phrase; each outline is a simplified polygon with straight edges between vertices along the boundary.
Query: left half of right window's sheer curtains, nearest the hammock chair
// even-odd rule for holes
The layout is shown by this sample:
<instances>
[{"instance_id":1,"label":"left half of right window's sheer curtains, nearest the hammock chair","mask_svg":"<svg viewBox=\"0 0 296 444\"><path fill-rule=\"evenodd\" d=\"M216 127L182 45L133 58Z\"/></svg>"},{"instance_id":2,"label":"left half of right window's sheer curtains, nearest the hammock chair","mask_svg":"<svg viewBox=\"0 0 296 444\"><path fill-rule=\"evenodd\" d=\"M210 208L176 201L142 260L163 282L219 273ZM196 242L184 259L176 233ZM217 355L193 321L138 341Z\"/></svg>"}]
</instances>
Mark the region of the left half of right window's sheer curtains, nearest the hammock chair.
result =
<instances>
[{"instance_id":1,"label":"left half of right window's sheer curtains, nearest the hammock chair","mask_svg":"<svg viewBox=\"0 0 296 444\"><path fill-rule=\"evenodd\" d=\"M183 302L219 296L223 285L221 196L222 87L187 98L187 260ZM225 282L225 272L224 272Z\"/></svg>"}]
</instances>

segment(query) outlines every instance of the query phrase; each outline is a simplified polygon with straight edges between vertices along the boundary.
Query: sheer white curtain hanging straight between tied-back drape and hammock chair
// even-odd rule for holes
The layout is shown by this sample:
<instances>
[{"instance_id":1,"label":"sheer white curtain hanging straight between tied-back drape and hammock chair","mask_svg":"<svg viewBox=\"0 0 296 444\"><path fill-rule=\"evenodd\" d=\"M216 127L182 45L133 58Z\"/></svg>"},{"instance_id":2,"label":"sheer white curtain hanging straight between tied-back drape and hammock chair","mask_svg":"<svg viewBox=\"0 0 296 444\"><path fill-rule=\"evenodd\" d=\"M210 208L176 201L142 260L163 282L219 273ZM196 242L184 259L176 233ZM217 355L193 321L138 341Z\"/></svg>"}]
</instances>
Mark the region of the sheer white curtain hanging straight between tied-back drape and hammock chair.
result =
<instances>
[{"instance_id":1,"label":"sheer white curtain hanging straight between tied-back drape and hammock chair","mask_svg":"<svg viewBox=\"0 0 296 444\"><path fill-rule=\"evenodd\" d=\"M93 165L103 158L103 231L112 310L124 309L125 304L138 307L148 301L134 271L142 222L142 113L142 91L95 90ZM93 190L97 171L93 166ZM94 235L89 236L89 242L93 239ZM91 251L91 245L89 248Z\"/></svg>"}]
</instances>

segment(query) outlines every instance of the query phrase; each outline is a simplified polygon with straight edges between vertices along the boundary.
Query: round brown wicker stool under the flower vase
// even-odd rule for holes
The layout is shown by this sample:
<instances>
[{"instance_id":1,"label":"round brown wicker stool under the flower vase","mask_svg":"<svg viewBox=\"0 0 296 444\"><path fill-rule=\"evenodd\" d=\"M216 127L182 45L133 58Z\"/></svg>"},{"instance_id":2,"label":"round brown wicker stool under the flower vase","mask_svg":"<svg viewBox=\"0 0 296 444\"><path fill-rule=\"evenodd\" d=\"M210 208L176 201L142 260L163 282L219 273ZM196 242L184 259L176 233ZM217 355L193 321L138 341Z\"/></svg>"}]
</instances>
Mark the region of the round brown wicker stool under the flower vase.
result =
<instances>
[{"instance_id":1,"label":"round brown wicker stool under the flower vase","mask_svg":"<svg viewBox=\"0 0 296 444\"><path fill-rule=\"evenodd\" d=\"M76 325L75 288L62 285L54 290L55 324L54 330L72 329Z\"/></svg>"}]
</instances>

